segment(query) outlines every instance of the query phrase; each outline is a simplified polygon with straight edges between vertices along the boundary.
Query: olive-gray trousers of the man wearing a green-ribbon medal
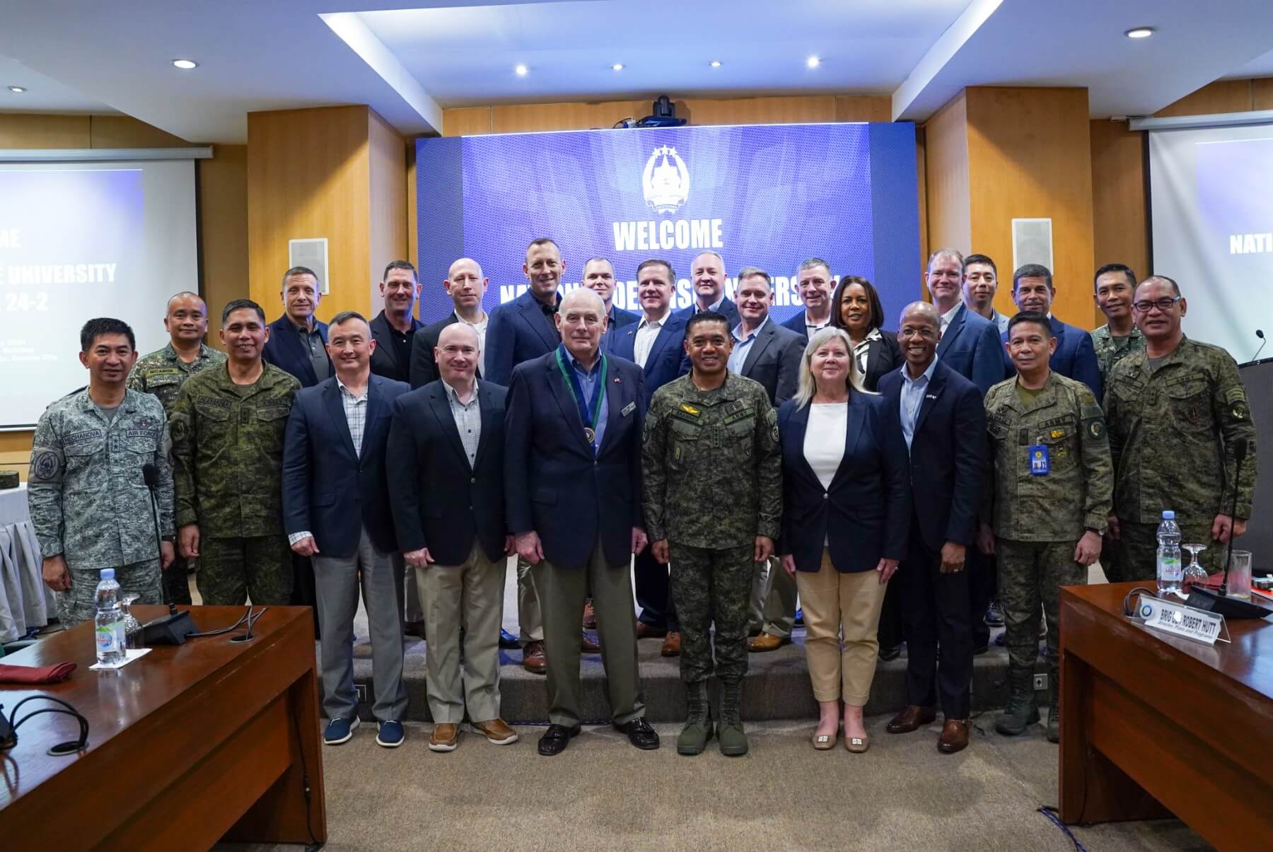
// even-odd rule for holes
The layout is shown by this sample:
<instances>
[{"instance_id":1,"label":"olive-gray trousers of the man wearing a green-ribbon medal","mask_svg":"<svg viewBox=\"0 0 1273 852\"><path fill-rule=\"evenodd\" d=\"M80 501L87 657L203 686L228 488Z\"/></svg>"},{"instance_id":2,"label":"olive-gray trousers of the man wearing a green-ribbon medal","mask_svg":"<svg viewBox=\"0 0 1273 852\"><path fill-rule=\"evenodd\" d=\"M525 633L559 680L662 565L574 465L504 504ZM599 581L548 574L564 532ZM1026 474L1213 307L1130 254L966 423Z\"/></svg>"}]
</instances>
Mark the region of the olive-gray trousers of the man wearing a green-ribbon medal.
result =
<instances>
[{"instance_id":1,"label":"olive-gray trousers of the man wearing a green-ribbon medal","mask_svg":"<svg viewBox=\"0 0 1273 852\"><path fill-rule=\"evenodd\" d=\"M579 723L579 615L592 592L597 614L601 664L610 690L610 714L626 725L645 714L645 699L636 666L636 602L630 563L606 564L601 541L588 564L558 568L546 560L532 565L535 588L544 607L544 652L547 657L549 721L572 727Z\"/></svg>"}]
</instances>

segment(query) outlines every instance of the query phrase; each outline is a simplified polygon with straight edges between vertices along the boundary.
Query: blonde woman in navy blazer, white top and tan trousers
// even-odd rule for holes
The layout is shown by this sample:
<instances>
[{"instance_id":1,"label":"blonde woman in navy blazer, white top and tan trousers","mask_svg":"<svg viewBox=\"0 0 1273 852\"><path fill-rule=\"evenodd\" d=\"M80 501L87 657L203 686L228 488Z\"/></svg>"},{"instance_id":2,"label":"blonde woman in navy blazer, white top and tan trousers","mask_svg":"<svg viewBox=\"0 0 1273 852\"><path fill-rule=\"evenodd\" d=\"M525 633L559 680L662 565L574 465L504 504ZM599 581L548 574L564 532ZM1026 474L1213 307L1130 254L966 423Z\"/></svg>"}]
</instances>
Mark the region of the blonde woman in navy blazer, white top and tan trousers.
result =
<instances>
[{"instance_id":1,"label":"blonde woman in navy blazer, white top and tan trousers","mask_svg":"<svg viewBox=\"0 0 1273 852\"><path fill-rule=\"evenodd\" d=\"M805 607L805 653L821 716L813 748L834 748L843 699L844 746L866 751L862 708L885 588L906 549L910 462L896 406L862 388L852 345L840 329L815 334L799 390L778 413L779 550Z\"/></svg>"}]
</instances>

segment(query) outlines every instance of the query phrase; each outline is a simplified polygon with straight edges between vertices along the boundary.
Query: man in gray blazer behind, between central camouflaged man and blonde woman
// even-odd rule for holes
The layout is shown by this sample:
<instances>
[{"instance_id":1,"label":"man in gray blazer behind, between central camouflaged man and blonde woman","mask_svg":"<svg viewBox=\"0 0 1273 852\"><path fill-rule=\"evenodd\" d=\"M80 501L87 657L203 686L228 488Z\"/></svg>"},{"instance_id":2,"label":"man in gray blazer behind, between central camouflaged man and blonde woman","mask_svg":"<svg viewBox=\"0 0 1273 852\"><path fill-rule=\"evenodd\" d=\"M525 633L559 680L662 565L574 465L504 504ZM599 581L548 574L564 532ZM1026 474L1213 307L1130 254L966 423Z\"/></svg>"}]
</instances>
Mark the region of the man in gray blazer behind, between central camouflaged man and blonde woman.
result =
<instances>
[{"instance_id":1,"label":"man in gray blazer behind, between central camouflaged man and blonde woman","mask_svg":"<svg viewBox=\"0 0 1273 852\"><path fill-rule=\"evenodd\" d=\"M769 404L778 408L796 396L805 336L769 318L774 301L773 283L763 269L738 271L735 292L738 325L733 329L729 369L764 385ZM749 632L760 632L751 651L773 651L791 642L796 621L796 579L778 569L778 560L756 563L747 613Z\"/></svg>"}]
</instances>

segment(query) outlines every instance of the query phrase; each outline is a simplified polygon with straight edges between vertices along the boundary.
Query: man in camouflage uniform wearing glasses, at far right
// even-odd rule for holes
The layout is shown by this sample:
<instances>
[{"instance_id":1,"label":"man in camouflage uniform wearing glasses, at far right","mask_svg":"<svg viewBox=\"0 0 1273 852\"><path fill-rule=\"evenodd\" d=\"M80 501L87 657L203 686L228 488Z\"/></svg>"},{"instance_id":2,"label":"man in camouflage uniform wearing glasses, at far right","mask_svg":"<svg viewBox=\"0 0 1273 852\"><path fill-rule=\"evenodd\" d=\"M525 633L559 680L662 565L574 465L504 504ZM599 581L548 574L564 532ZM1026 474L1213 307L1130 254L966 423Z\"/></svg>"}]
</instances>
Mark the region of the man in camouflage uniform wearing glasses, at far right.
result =
<instances>
[{"instance_id":1,"label":"man in camouflage uniform wearing glasses, at far right","mask_svg":"<svg viewBox=\"0 0 1273 852\"><path fill-rule=\"evenodd\" d=\"M1208 545L1199 557L1221 571L1231 535L1246 531L1255 490L1255 424L1232 357L1185 337L1189 304L1170 278L1136 288L1137 323L1146 348L1120 360L1109 378L1105 416L1114 462L1110 536L1122 574L1153 579L1164 509L1176 513L1185 543ZM1234 447L1246 442L1241 479ZM1237 511L1234 515L1234 489Z\"/></svg>"}]
</instances>

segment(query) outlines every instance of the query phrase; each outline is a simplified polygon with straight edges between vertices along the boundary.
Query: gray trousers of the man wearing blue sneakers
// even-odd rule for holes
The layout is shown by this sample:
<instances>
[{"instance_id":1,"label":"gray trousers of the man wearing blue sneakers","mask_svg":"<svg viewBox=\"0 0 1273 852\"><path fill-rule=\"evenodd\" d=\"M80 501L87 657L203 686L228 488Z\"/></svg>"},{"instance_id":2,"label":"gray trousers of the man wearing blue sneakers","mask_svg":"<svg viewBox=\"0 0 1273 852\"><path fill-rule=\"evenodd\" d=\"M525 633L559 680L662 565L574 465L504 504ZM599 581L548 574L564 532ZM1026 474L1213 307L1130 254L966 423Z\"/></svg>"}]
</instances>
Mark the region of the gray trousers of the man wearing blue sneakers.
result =
<instances>
[{"instance_id":1,"label":"gray trousers of the man wearing blue sneakers","mask_svg":"<svg viewBox=\"0 0 1273 852\"><path fill-rule=\"evenodd\" d=\"M395 563L398 565L395 571ZM313 558L318 627L322 630L322 708L327 718L358 714L354 692L354 614L362 586L367 627L372 638L372 713L382 722L406 716L406 686L402 684L402 623L400 609L402 554L382 553L367 530L351 557Z\"/></svg>"}]
</instances>

